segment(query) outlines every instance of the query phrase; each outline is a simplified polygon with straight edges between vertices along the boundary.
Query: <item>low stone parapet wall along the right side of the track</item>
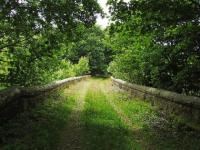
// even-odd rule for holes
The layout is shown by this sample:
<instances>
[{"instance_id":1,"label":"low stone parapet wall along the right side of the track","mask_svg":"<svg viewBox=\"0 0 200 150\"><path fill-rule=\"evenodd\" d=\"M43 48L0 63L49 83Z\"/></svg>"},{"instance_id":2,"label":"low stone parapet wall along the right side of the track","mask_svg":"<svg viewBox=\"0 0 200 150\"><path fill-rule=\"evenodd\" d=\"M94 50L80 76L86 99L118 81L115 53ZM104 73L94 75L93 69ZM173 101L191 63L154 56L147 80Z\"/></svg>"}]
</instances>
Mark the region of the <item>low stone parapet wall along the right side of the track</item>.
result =
<instances>
[{"instance_id":1,"label":"low stone parapet wall along the right side of the track","mask_svg":"<svg viewBox=\"0 0 200 150\"><path fill-rule=\"evenodd\" d=\"M200 125L200 98L157 88L131 84L111 77L114 85L131 95L149 101L170 115L178 115Z\"/></svg>"}]
</instances>

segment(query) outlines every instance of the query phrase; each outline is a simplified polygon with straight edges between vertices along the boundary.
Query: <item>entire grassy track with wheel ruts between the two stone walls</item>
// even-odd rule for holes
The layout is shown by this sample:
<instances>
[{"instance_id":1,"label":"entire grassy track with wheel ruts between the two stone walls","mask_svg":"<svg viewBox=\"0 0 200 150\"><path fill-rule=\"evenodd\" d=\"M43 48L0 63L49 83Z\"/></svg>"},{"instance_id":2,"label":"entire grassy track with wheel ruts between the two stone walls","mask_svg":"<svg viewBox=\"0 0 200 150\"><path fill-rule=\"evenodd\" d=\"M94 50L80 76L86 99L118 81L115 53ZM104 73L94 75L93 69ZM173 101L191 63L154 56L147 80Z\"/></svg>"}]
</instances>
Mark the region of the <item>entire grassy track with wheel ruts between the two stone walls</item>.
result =
<instances>
[{"instance_id":1,"label":"entire grassy track with wheel ruts between the two stone walls","mask_svg":"<svg viewBox=\"0 0 200 150\"><path fill-rule=\"evenodd\" d=\"M200 133L92 78L0 124L2 150L199 150Z\"/></svg>"}]
</instances>

